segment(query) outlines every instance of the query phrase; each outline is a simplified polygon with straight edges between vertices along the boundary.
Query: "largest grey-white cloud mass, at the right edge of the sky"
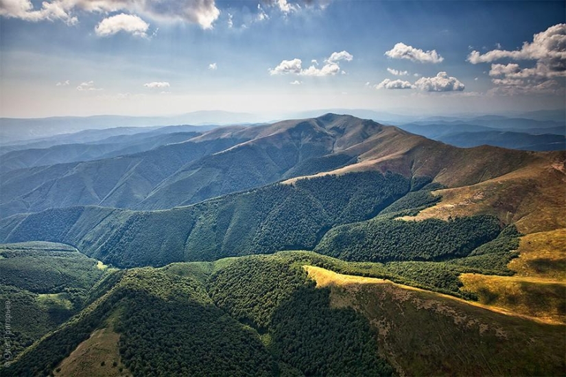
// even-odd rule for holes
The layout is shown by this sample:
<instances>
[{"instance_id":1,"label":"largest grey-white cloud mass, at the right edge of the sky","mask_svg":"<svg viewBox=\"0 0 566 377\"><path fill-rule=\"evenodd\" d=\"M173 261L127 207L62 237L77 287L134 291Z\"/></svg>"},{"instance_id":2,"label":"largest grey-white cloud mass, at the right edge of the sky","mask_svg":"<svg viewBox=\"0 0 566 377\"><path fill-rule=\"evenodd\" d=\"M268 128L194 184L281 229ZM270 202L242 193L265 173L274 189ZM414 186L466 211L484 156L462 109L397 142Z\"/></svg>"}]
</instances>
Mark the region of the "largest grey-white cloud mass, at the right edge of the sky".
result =
<instances>
[{"instance_id":1,"label":"largest grey-white cloud mass, at the right edge of the sky","mask_svg":"<svg viewBox=\"0 0 566 377\"><path fill-rule=\"evenodd\" d=\"M491 64L489 75L493 84L500 86L493 93L561 93L563 84L556 79L566 77L566 24L554 25L534 34L532 42L523 42L521 49L509 51L499 47L483 54L474 50L467 58L472 64L504 59L534 60L535 63L528 68L521 68L516 62Z\"/></svg>"}]
</instances>

